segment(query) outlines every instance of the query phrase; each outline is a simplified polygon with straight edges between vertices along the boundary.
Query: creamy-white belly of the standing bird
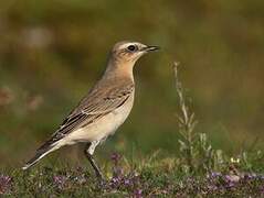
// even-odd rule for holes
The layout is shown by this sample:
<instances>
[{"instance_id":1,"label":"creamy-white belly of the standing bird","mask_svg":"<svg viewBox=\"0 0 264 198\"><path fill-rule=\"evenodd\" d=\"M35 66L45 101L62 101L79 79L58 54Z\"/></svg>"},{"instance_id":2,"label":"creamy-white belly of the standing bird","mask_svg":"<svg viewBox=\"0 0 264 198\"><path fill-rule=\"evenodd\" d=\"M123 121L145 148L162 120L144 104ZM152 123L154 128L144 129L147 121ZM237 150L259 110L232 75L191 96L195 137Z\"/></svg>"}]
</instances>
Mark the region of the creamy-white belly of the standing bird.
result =
<instances>
[{"instance_id":1,"label":"creamy-white belly of the standing bird","mask_svg":"<svg viewBox=\"0 0 264 198\"><path fill-rule=\"evenodd\" d=\"M66 144L105 140L125 122L133 108L133 102L134 98L131 97L125 105L117 108L115 111L104 116L85 128L73 131L66 136Z\"/></svg>"}]
</instances>

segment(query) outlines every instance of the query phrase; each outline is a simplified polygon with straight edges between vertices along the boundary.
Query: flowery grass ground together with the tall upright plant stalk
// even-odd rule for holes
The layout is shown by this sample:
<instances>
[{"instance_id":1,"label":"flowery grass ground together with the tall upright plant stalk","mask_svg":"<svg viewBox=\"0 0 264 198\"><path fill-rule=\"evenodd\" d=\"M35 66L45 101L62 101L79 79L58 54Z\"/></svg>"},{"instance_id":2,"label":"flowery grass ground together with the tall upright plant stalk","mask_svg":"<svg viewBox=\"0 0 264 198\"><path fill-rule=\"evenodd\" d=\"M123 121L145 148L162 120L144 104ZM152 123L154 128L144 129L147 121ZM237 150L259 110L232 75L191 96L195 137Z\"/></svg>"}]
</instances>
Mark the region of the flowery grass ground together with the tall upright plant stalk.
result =
<instances>
[{"instance_id":1,"label":"flowery grass ground together with the tall upright plant stalk","mask_svg":"<svg viewBox=\"0 0 264 198\"><path fill-rule=\"evenodd\" d=\"M0 172L0 195L11 197L262 197L264 153L254 147L230 156L214 150L187 100L175 64L179 156L157 151L126 158L112 154L105 180L85 167L39 166L29 172ZM107 162L107 161L106 161Z\"/></svg>"}]
</instances>

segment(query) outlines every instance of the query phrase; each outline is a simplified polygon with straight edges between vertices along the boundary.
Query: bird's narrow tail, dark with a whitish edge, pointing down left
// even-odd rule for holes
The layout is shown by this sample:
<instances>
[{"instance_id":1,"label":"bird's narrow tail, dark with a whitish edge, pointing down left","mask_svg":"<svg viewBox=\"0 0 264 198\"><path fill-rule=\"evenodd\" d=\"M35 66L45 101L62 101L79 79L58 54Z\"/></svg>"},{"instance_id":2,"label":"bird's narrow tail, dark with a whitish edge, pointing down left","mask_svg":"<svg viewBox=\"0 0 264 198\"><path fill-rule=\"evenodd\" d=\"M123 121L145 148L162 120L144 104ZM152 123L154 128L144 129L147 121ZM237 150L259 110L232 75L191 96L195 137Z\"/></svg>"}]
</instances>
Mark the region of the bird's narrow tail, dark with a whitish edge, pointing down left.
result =
<instances>
[{"instance_id":1,"label":"bird's narrow tail, dark with a whitish edge, pointing down left","mask_svg":"<svg viewBox=\"0 0 264 198\"><path fill-rule=\"evenodd\" d=\"M33 166L34 164L36 164L42 157L44 157L45 155L47 155L49 153L55 151L56 148L59 148L56 145L44 145L41 146L39 150L36 150L35 155L22 167L22 169L28 169L31 166Z\"/></svg>"}]
</instances>

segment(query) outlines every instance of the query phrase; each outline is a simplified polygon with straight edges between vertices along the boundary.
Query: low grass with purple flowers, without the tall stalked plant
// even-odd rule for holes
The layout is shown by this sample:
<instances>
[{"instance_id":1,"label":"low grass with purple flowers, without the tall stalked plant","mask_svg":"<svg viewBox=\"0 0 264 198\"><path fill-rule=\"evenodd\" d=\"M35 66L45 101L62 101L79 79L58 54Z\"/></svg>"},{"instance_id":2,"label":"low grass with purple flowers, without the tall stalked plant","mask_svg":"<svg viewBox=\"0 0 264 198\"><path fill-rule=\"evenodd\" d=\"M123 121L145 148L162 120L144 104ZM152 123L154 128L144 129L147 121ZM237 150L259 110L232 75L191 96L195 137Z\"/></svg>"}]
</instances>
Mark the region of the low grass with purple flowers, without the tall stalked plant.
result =
<instances>
[{"instance_id":1,"label":"low grass with purple flowers, without the tall stalked plant","mask_svg":"<svg viewBox=\"0 0 264 198\"><path fill-rule=\"evenodd\" d=\"M261 197L264 194L263 154L224 161L220 169L186 172L182 158L150 157L131 161L113 154L98 182L83 167L39 167L30 172L1 172L0 194L13 197Z\"/></svg>"}]
</instances>

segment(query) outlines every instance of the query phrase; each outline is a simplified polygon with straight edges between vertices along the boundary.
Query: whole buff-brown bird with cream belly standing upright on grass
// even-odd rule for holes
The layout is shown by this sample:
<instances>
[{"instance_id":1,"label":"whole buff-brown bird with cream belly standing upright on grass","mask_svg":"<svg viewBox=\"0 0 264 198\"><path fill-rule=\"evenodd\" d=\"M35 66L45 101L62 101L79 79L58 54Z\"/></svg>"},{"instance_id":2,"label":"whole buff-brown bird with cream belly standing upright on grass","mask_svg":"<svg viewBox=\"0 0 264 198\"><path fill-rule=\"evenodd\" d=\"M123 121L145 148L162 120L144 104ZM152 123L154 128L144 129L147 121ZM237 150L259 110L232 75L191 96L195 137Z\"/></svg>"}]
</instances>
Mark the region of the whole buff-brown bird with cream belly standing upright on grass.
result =
<instances>
[{"instance_id":1,"label":"whole buff-brown bird with cream belly standing upright on grass","mask_svg":"<svg viewBox=\"0 0 264 198\"><path fill-rule=\"evenodd\" d=\"M85 143L84 154L95 175L103 174L94 160L94 151L125 122L135 95L134 66L145 54L159 50L139 42L118 42L110 50L106 69L88 94L62 121L57 130L42 144L22 167L29 169L41 158L63 146Z\"/></svg>"}]
</instances>

